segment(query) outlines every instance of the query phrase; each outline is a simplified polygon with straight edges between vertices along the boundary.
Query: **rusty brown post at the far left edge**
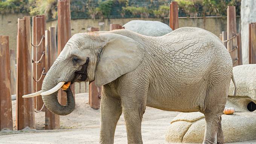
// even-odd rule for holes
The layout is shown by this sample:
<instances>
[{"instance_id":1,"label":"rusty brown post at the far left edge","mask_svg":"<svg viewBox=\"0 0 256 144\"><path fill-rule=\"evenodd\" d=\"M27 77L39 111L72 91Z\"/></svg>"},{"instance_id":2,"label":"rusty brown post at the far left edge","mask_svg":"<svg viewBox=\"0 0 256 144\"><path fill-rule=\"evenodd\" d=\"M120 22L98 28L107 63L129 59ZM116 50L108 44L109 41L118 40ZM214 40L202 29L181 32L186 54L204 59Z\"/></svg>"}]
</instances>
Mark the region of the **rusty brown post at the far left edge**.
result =
<instances>
[{"instance_id":1,"label":"rusty brown post at the far left edge","mask_svg":"<svg viewBox=\"0 0 256 144\"><path fill-rule=\"evenodd\" d=\"M0 131L12 130L9 36L0 35Z\"/></svg>"}]
</instances>

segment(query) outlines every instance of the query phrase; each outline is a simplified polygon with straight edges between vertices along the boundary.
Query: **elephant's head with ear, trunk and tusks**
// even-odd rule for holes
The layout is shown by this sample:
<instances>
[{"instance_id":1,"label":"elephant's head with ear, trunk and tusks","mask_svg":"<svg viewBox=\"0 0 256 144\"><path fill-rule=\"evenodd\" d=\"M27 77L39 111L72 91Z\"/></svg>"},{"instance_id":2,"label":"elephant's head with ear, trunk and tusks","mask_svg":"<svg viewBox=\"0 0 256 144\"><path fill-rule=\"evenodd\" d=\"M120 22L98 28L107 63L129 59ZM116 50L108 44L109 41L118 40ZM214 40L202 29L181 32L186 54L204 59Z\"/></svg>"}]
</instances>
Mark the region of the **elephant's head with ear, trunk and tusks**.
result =
<instances>
[{"instance_id":1,"label":"elephant's head with ear, trunk and tusks","mask_svg":"<svg viewBox=\"0 0 256 144\"><path fill-rule=\"evenodd\" d=\"M126 36L114 33L73 35L44 78L41 95L45 106L58 115L70 114L75 108L70 88L66 90L66 106L60 105L57 99L58 89L64 83L95 80L96 85L105 85L137 68L144 53L142 45Z\"/></svg>"}]
</instances>

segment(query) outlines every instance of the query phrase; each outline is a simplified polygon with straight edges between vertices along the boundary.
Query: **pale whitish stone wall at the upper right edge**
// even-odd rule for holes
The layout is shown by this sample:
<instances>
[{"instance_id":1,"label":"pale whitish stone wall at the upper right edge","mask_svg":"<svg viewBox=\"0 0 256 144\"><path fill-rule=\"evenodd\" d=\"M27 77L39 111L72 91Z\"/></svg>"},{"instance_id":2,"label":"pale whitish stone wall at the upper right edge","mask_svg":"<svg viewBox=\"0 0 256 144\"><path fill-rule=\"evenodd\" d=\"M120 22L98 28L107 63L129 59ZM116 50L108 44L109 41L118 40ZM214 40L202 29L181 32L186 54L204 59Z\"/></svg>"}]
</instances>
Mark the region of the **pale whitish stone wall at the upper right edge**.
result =
<instances>
[{"instance_id":1,"label":"pale whitish stone wall at the upper right edge","mask_svg":"<svg viewBox=\"0 0 256 144\"><path fill-rule=\"evenodd\" d=\"M241 1L242 56L243 64L248 64L249 23L256 22L256 0Z\"/></svg>"}]
</instances>

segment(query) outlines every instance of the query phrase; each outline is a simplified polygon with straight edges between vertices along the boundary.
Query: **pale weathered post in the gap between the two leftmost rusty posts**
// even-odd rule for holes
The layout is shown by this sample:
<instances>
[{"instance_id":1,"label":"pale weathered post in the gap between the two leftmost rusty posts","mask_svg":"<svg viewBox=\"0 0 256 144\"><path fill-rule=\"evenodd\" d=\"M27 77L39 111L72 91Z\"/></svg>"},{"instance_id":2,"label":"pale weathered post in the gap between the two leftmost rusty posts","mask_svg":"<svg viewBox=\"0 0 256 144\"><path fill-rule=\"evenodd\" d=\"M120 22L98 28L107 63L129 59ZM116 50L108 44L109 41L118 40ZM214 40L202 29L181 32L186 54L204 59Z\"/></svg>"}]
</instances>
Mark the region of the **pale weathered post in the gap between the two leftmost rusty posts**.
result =
<instances>
[{"instance_id":1,"label":"pale weathered post in the gap between the two leftmost rusty posts","mask_svg":"<svg viewBox=\"0 0 256 144\"><path fill-rule=\"evenodd\" d=\"M10 67L11 67L11 94L16 94L16 53L15 50L10 50Z\"/></svg>"}]
</instances>

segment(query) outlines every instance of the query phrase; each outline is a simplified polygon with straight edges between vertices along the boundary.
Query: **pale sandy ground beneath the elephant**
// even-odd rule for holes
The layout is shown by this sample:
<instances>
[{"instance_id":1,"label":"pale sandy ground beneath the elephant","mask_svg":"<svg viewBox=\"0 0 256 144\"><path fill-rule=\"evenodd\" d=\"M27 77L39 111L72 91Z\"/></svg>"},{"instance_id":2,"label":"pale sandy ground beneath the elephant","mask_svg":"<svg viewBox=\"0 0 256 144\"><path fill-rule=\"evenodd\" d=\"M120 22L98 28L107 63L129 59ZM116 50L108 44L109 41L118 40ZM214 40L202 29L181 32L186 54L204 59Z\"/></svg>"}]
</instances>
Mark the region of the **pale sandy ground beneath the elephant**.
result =
<instances>
[{"instance_id":1,"label":"pale sandy ground beneath the elephant","mask_svg":"<svg viewBox=\"0 0 256 144\"><path fill-rule=\"evenodd\" d=\"M15 123L15 101L12 102ZM37 130L14 130L0 132L1 144L97 144L99 143L99 110L88 105L88 93L76 94L76 109L69 115L61 116L60 130L44 129L44 112L36 113ZM142 138L144 144L167 144L165 132L179 112L162 111L146 108L142 122ZM15 128L15 127L14 127ZM127 143L123 115L115 133L115 144ZM256 144L255 141L233 144Z\"/></svg>"}]
</instances>

